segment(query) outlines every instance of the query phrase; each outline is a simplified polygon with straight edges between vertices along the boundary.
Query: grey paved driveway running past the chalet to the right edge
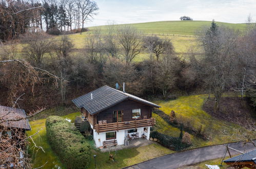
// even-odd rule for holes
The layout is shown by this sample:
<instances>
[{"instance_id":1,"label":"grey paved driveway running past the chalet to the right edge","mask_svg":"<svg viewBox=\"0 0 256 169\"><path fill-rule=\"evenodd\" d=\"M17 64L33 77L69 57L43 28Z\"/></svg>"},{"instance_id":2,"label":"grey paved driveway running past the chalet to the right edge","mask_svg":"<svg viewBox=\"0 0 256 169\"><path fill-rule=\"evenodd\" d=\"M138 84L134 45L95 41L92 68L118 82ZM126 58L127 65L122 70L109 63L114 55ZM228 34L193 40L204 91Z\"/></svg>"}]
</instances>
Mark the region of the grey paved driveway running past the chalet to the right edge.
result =
<instances>
[{"instance_id":1,"label":"grey paved driveway running past the chalet to the right edge","mask_svg":"<svg viewBox=\"0 0 256 169\"><path fill-rule=\"evenodd\" d=\"M254 141L255 142L255 141ZM128 166L125 168L129 169L146 169L146 168L179 168L184 165L190 165L199 163L206 160L222 158L226 152L226 145L213 145L202 147L198 149L188 150L180 153L168 154L162 157L157 157L148 161L144 161L142 163L138 163L132 166ZM243 144L243 143L230 143L229 147L239 150L241 152L249 152L251 150L256 149L252 143ZM239 152L235 152L230 150L231 155L238 155ZM229 156L228 153L226 156Z\"/></svg>"}]
</instances>

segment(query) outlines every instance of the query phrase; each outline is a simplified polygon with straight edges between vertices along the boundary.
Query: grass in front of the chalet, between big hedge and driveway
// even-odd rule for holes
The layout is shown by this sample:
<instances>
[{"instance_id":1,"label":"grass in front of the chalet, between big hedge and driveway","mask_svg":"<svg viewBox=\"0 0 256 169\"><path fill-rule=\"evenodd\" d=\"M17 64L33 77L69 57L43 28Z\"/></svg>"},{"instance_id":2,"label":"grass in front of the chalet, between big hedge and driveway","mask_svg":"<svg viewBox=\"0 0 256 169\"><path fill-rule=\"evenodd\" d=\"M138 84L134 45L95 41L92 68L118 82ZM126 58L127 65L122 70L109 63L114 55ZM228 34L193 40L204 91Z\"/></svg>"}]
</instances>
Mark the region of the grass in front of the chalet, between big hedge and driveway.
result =
<instances>
[{"instance_id":1,"label":"grass in front of the chalet, between big hedge and driveway","mask_svg":"<svg viewBox=\"0 0 256 169\"><path fill-rule=\"evenodd\" d=\"M108 152L94 151L93 153L96 155L97 168L122 168L174 152L160 144L153 143L146 146L119 150L116 154L115 152L110 152L114 154L114 162L109 161ZM91 160L88 168L94 168L94 159Z\"/></svg>"}]
</instances>

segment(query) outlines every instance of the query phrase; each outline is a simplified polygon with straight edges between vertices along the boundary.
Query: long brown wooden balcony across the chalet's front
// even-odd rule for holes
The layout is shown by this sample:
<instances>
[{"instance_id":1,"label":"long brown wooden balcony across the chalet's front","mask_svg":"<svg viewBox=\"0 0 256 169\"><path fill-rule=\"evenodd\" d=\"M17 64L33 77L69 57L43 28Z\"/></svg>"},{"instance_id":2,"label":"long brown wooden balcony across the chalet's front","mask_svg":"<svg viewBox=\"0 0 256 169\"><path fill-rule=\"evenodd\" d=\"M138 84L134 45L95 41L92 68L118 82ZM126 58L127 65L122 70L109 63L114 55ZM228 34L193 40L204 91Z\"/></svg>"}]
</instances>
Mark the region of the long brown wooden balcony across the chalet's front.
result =
<instances>
[{"instance_id":1,"label":"long brown wooden balcony across the chalet's front","mask_svg":"<svg viewBox=\"0 0 256 169\"><path fill-rule=\"evenodd\" d=\"M132 120L124 122L114 122L108 124L95 124L94 130L99 133L111 132L111 131L120 131L128 129L137 129L147 126L153 126L156 124L155 118L143 119L143 120Z\"/></svg>"}]
</instances>

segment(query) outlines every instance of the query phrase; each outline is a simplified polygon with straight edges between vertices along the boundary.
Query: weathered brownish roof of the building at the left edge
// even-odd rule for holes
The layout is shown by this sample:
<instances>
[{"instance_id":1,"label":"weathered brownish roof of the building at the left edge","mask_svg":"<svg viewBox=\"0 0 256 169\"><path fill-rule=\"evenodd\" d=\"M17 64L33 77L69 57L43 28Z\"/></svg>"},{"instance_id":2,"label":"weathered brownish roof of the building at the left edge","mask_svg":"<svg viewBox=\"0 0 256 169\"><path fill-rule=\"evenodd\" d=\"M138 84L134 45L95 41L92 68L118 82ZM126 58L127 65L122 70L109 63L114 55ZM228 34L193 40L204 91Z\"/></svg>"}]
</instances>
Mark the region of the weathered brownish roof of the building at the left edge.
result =
<instances>
[{"instance_id":1,"label":"weathered brownish roof of the building at the left edge","mask_svg":"<svg viewBox=\"0 0 256 169\"><path fill-rule=\"evenodd\" d=\"M25 130L31 130L28 119L22 119L18 121L8 121L10 119L19 119L27 117L26 113L22 109L10 108L0 105L0 118L4 119L3 125L11 128L21 128ZM0 124L1 125L1 124Z\"/></svg>"}]
</instances>

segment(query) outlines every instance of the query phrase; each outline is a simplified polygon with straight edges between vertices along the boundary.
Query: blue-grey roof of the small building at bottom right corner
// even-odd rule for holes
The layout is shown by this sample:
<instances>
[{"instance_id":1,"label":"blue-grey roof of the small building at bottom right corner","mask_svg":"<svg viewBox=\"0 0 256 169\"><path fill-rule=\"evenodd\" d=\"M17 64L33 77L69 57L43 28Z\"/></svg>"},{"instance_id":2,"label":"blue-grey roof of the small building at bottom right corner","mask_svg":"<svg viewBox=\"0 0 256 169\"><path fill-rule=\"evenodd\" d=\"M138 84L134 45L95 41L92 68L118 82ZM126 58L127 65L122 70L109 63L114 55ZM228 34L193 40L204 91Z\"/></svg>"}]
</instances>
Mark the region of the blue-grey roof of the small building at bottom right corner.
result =
<instances>
[{"instance_id":1,"label":"blue-grey roof of the small building at bottom right corner","mask_svg":"<svg viewBox=\"0 0 256 169\"><path fill-rule=\"evenodd\" d=\"M227 160L224 160L224 162L250 162L250 161L256 163L256 149L248 153L241 154L239 156L235 156Z\"/></svg>"}]
</instances>

